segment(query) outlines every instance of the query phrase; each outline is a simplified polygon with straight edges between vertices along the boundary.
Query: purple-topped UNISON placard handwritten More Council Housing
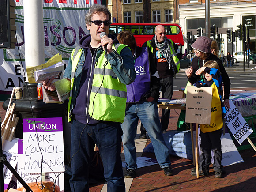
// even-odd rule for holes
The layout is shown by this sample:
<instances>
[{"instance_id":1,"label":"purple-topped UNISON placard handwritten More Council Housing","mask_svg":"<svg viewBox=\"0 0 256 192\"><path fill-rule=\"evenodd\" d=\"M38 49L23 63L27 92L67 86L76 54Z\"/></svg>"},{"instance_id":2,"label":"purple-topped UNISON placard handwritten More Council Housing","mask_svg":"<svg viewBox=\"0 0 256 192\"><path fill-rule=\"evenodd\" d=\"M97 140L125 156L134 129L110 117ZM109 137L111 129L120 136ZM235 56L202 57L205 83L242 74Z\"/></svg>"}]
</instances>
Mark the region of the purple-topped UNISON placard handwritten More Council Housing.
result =
<instances>
[{"instance_id":1,"label":"purple-topped UNISON placard handwritten More Council Housing","mask_svg":"<svg viewBox=\"0 0 256 192\"><path fill-rule=\"evenodd\" d=\"M23 119L24 173L64 171L62 130L61 117Z\"/></svg>"}]
</instances>

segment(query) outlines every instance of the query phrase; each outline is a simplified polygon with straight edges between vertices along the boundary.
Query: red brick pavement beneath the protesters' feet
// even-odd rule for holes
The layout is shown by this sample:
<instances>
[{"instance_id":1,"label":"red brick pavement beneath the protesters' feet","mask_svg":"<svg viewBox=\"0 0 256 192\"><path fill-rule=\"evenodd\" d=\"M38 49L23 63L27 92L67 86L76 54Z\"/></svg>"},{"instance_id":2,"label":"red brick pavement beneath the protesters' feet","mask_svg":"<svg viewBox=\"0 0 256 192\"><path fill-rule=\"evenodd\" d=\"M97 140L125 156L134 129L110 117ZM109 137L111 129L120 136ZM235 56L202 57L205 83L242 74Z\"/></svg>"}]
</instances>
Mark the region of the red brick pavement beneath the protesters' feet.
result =
<instances>
[{"instance_id":1,"label":"red brick pavement beneath the protesters' feet","mask_svg":"<svg viewBox=\"0 0 256 192\"><path fill-rule=\"evenodd\" d=\"M175 91L173 98L181 98L182 94ZM177 113L176 113L177 112ZM169 130L177 130L177 119L179 110L171 110ZM161 111L160 111L161 116ZM139 132L139 131L138 131ZM139 136L139 133L138 135ZM143 139L140 139L143 140ZM145 139L146 140L146 139ZM147 144L150 139L147 140ZM137 156L155 158L153 153L142 153L139 150L139 140L136 139ZM137 169L134 179L126 179L127 192L201 192L201 191L225 191L225 192L255 192L256 191L256 152L251 148L239 151L243 163L225 166L226 176L222 179L214 177L213 169L210 169L209 176L200 176L198 179L190 175L193 168L192 161L184 158L171 156L174 175L166 177L159 165L147 166ZM129 185L131 184L131 187ZM90 187L90 192L105 192L104 183Z\"/></svg>"}]
</instances>

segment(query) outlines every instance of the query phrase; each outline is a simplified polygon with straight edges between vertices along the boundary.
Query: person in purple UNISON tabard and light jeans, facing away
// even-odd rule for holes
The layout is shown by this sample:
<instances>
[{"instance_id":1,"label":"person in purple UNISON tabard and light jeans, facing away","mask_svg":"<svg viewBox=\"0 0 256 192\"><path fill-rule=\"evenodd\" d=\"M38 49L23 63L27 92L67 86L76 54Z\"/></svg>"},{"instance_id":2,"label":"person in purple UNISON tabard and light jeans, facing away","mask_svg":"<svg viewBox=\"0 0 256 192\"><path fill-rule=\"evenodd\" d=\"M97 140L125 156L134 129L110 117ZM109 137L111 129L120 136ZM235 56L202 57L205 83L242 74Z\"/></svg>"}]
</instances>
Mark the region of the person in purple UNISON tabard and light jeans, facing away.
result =
<instances>
[{"instance_id":1,"label":"person in purple UNISON tabard and light jeans, facing away","mask_svg":"<svg viewBox=\"0 0 256 192\"><path fill-rule=\"evenodd\" d=\"M160 80L153 57L149 57L148 47L136 47L136 41L130 31L121 31L117 35L120 43L131 48L136 71L136 79L127 85L127 100L124 122L121 128L124 146L124 156L127 172L126 178L133 178L136 175L136 148L134 139L138 121L144 125L151 142L158 164L166 176L173 175L170 167L169 151L162 136L161 124L158 116L157 101L159 98ZM152 54L151 54L152 55Z\"/></svg>"}]
</instances>

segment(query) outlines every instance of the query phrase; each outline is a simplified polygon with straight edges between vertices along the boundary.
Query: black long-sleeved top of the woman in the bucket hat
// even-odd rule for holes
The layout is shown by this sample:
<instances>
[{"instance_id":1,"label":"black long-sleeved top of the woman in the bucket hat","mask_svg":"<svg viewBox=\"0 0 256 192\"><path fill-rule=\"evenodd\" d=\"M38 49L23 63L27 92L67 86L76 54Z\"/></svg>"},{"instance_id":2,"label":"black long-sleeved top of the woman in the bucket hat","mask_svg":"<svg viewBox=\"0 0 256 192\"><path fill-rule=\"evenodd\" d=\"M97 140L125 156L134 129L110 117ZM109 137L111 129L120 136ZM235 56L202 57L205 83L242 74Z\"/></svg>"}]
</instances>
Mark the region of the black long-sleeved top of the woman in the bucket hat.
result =
<instances>
[{"instance_id":1,"label":"black long-sleeved top of the woman in the bucket hat","mask_svg":"<svg viewBox=\"0 0 256 192\"><path fill-rule=\"evenodd\" d=\"M229 99L230 98L230 78L221 62L221 60L213 54L210 54L210 56L204 61L207 62L209 60L215 60L218 63L218 66L220 68L220 73L222 76L223 80L223 85L224 85L224 99ZM193 68L192 76L188 78L188 81L192 84L196 83L197 81L201 80L200 75L196 75L196 71L203 67L203 60L200 59L200 57L195 57L192 59L191 66ZM201 74L203 77L203 74ZM204 77L203 77L204 78Z\"/></svg>"}]
</instances>

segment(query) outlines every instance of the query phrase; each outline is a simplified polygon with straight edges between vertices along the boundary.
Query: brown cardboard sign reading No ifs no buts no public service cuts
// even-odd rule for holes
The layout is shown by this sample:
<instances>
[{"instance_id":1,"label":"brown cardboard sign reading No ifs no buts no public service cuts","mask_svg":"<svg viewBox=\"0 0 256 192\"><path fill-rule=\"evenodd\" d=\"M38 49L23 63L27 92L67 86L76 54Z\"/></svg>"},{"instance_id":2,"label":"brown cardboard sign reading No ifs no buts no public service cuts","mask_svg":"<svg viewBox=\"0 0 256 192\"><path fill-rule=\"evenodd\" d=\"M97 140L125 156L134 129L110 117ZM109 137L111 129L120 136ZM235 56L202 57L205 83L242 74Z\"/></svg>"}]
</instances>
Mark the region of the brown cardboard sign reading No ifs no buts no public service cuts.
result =
<instances>
[{"instance_id":1,"label":"brown cardboard sign reading No ifs no buts no public service cuts","mask_svg":"<svg viewBox=\"0 0 256 192\"><path fill-rule=\"evenodd\" d=\"M211 87L187 87L186 122L211 123Z\"/></svg>"}]
</instances>

